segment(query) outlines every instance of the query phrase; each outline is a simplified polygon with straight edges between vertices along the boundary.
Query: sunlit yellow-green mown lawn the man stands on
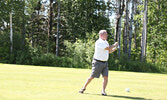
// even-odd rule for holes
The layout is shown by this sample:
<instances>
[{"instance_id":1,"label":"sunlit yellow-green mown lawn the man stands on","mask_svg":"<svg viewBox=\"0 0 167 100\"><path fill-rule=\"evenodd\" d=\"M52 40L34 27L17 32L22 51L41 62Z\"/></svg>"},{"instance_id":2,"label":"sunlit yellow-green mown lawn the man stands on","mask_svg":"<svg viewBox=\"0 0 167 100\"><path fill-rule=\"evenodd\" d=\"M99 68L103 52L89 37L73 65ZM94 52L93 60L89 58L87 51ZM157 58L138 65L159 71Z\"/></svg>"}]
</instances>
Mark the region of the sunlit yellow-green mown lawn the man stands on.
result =
<instances>
[{"instance_id":1,"label":"sunlit yellow-green mown lawn the man stands on","mask_svg":"<svg viewBox=\"0 0 167 100\"><path fill-rule=\"evenodd\" d=\"M0 100L167 100L167 74L155 73L110 71L108 96L100 95L102 77L94 79L85 93L79 94L90 72L0 64Z\"/></svg>"}]
</instances>

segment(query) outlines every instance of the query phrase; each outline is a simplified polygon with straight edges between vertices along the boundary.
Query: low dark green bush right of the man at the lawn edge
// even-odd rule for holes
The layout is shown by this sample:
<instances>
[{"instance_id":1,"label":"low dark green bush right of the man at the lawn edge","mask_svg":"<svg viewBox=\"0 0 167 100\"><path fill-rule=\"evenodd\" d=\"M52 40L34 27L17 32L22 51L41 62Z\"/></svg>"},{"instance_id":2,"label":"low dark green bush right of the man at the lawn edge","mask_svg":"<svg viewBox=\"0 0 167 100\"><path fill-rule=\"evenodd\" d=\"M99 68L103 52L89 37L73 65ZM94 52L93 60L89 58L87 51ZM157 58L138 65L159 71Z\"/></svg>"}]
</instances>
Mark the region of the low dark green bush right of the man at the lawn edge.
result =
<instances>
[{"instance_id":1,"label":"low dark green bush right of the man at the lawn edge","mask_svg":"<svg viewBox=\"0 0 167 100\"><path fill-rule=\"evenodd\" d=\"M140 60L128 60L126 55L122 55L120 59L114 59L113 55L111 55L109 59L109 69L134 72L160 72L158 66Z\"/></svg>"}]
</instances>

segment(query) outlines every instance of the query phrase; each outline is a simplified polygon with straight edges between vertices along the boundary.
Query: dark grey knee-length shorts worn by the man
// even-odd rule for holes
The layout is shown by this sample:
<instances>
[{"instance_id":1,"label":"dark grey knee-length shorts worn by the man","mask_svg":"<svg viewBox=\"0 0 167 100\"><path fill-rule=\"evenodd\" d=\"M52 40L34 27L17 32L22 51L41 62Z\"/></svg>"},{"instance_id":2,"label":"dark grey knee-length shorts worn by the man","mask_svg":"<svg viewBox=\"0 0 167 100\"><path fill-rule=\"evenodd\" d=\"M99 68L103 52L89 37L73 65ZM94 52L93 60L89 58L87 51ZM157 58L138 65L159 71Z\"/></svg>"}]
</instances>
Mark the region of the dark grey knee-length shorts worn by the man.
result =
<instances>
[{"instance_id":1,"label":"dark grey knee-length shorts worn by the man","mask_svg":"<svg viewBox=\"0 0 167 100\"><path fill-rule=\"evenodd\" d=\"M92 61L91 77L99 78L100 74L108 76L108 62Z\"/></svg>"}]
</instances>

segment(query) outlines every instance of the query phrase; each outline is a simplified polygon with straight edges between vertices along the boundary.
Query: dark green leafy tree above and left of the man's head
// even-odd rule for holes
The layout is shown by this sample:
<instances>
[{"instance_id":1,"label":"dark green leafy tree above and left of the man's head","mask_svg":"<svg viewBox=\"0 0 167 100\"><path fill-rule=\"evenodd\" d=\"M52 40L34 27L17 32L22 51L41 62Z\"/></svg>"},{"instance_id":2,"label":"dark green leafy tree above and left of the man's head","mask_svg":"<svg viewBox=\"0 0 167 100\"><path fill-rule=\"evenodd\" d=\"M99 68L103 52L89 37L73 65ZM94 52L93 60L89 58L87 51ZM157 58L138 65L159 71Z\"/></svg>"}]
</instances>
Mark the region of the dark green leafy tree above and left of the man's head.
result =
<instances>
[{"instance_id":1,"label":"dark green leafy tree above and left of the man's head","mask_svg":"<svg viewBox=\"0 0 167 100\"><path fill-rule=\"evenodd\" d=\"M63 55L64 40L74 43L77 39L86 40L86 33L108 29L110 22L106 13L107 5L104 0L62 0L60 12L59 55ZM110 5L111 6L111 5ZM56 7L58 4L56 3ZM58 8L55 9L58 16ZM57 25L58 20L54 20Z\"/></svg>"}]
</instances>

